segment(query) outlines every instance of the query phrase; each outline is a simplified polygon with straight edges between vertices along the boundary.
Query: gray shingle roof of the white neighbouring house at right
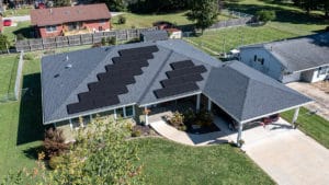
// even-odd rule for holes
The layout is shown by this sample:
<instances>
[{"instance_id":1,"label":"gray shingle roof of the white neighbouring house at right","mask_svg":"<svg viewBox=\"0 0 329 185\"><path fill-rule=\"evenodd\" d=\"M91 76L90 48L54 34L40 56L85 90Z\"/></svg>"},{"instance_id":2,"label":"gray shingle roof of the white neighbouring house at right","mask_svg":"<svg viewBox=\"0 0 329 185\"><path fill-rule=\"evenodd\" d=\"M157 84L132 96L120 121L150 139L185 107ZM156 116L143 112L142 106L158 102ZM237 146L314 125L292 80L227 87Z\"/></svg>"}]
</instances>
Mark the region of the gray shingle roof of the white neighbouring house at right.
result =
<instances>
[{"instance_id":1,"label":"gray shingle roof of the white neighbouring house at right","mask_svg":"<svg viewBox=\"0 0 329 185\"><path fill-rule=\"evenodd\" d=\"M329 32L241 48L264 47L291 71L329 65Z\"/></svg>"}]
</instances>

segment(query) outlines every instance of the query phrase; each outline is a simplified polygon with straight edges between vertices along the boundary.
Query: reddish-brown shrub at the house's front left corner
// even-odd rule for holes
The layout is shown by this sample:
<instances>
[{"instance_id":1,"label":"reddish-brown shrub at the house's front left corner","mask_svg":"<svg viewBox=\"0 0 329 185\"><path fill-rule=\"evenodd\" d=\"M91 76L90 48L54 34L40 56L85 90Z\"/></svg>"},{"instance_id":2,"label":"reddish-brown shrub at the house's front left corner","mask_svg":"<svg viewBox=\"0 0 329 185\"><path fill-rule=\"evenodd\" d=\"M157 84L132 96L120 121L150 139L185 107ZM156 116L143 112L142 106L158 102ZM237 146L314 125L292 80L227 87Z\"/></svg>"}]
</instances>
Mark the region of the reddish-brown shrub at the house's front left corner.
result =
<instances>
[{"instance_id":1,"label":"reddish-brown shrub at the house's front left corner","mask_svg":"<svg viewBox=\"0 0 329 185\"><path fill-rule=\"evenodd\" d=\"M44 149L47 159L60 155L69 149L69 144L65 143L63 130L49 128L45 131Z\"/></svg>"}]
</instances>

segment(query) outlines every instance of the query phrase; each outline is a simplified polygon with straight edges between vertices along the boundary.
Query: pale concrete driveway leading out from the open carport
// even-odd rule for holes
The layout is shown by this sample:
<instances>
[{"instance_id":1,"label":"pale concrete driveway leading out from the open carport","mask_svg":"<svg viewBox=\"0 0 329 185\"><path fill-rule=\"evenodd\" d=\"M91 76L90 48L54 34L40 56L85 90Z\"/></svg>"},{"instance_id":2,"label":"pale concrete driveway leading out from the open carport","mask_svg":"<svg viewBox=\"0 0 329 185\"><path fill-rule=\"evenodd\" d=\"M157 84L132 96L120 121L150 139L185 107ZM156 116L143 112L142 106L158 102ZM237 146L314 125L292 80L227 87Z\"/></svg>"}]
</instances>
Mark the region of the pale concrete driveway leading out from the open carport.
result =
<instances>
[{"instance_id":1,"label":"pale concrete driveway leading out from the open carport","mask_svg":"<svg viewBox=\"0 0 329 185\"><path fill-rule=\"evenodd\" d=\"M329 150L298 129L246 142L243 150L280 185L329 184Z\"/></svg>"}]
</instances>

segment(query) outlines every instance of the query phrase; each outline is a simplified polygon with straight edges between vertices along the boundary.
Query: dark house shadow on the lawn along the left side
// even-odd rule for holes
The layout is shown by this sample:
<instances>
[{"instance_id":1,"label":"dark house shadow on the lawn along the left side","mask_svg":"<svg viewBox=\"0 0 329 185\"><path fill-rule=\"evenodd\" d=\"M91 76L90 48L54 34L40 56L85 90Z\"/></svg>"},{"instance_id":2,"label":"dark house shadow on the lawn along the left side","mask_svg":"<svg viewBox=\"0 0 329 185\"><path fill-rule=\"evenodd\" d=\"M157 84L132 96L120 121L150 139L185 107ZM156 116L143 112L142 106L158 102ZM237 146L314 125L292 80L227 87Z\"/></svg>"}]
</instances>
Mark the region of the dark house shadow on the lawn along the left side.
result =
<instances>
[{"instance_id":1,"label":"dark house shadow on the lawn along the left side","mask_svg":"<svg viewBox=\"0 0 329 185\"><path fill-rule=\"evenodd\" d=\"M41 74L26 74L23 77L16 144L42 140L43 134Z\"/></svg>"}]
</instances>

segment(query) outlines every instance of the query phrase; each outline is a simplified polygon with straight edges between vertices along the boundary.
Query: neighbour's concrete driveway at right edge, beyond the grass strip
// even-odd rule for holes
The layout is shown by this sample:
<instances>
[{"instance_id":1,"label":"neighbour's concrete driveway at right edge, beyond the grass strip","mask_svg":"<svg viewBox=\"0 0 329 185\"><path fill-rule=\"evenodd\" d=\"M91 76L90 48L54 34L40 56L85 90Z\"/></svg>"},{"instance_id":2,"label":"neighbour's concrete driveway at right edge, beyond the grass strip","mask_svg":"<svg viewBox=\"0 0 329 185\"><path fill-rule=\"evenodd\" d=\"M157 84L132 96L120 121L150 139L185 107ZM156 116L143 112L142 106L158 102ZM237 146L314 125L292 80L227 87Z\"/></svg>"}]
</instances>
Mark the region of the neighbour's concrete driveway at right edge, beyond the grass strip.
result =
<instances>
[{"instance_id":1,"label":"neighbour's concrete driveway at right edge, beyond the grass strip","mask_svg":"<svg viewBox=\"0 0 329 185\"><path fill-rule=\"evenodd\" d=\"M310 111L317 111L317 114L329 120L329 94L318 89L317 86L305 82L293 82L286 84L287 86L305 94L315 100L314 103L305 107Z\"/></svg>"}]
</instances>

